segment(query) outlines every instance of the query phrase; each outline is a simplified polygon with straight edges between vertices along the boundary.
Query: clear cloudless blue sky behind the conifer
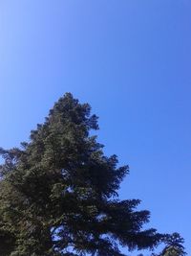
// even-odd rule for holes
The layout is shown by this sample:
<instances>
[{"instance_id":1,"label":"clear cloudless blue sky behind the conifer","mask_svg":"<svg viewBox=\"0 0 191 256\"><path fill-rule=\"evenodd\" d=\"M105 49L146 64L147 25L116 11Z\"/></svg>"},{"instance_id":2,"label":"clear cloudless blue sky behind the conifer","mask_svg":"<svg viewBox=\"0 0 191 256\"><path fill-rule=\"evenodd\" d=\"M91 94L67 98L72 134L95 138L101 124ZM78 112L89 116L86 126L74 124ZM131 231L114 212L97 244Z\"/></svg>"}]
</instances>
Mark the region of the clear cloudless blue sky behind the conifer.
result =
<instances>
[{"instance_id":1,"label":"clear cloudless blue sky behind the conifer","mask_svg":"<svg viewBox=\"0 0 191 256\"><path fill-rule=\"evenodd\" d=\"M27 140L65 92L99 116L99 141L161 232L191 253L191 2L0 1L0 146Z\"/></svg>"}]
</instances>

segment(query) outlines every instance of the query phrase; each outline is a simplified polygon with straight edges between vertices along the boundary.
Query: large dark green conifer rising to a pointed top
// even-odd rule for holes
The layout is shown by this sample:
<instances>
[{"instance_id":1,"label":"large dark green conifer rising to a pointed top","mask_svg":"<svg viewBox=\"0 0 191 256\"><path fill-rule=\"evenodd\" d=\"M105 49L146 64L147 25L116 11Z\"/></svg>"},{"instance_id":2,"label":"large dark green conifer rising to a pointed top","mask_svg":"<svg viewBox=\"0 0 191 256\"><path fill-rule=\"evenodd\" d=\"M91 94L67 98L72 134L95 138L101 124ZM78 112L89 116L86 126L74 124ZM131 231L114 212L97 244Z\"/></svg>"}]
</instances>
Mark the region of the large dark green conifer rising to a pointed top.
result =
<instances>
[{"instance_id":1,"label":"large dark green conifer rising to a pointed top","mask_svg":"<svg viewBox=\"0 0 191 256\"><path fill-rule=\"evenodd\" d=\"M29 143L0 150L2 256L122 256L118 244L152 249L165 240L142 229L150 213L136 209L138 199L119 200L129 168L104 155L96 129L90 105L67 93Z\"/></svg>"}]
</instances>

